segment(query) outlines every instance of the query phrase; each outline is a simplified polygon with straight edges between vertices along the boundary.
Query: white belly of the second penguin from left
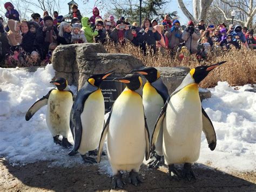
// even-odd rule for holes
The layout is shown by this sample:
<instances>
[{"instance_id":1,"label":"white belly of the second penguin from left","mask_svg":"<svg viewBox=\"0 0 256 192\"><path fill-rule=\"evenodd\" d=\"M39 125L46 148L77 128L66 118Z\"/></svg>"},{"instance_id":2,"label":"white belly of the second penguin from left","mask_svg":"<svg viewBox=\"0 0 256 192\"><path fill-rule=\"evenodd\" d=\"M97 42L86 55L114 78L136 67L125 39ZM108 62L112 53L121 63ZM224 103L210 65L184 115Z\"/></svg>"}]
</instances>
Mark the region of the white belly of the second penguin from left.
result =
<instances>
[{"instance_id":1,"label":"white belly of the second penguin from left","mask_svg":"<svg viewBox=\"0 0 256 192\"><path fill-rule=\"evenodd\" d=\"M98 89L86 99L84 110L80 115L82 123L82 138L78 148L80 154L84 155L98 147L104 125L104 113L104 97L102 91Z\"/></svg>"}]
</instances>

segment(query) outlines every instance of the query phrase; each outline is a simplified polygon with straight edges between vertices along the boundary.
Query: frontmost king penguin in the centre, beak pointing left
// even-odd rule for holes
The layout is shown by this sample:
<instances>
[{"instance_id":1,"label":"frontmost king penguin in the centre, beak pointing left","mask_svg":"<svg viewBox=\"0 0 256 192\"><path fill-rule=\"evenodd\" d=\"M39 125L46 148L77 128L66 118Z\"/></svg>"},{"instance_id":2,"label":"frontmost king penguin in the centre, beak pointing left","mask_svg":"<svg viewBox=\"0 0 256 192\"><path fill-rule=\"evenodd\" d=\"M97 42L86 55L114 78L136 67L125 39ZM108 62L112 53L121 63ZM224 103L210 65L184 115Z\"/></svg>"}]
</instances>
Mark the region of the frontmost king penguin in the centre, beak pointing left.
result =
<instances>
[{"instance_id":1,"label":"frontmost king penguin in the centre, beak pointing left","mask_svg":"<svg viewBox=\"0 0 256 192\"><path fill-rule=\"evenodd\" d=\"M128 74L116 78L126 84L126 88L114 102L109 118L104 126L98 150L98 162L107 135L107 155L112 167L112 188L123 188L121 171L129 173L130 183L140 182L139 168L144 157L150 156L149 130L144 115L142 78L138 74ZM138 91L138 92L137 92Z\"/></svg>"}]
</instances>

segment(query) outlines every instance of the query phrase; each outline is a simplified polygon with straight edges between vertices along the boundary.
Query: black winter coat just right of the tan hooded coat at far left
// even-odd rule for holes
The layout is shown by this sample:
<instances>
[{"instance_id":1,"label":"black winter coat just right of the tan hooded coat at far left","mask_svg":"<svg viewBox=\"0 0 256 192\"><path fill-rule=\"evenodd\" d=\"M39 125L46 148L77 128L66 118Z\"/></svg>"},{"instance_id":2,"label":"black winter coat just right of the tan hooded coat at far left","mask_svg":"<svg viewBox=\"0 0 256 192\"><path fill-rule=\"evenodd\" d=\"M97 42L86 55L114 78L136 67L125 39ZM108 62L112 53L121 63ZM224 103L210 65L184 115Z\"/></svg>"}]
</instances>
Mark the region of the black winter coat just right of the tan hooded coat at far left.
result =
<instances>
[{"instance_id":1,"label":"black winter coat just right of the tan hooded coat at far left","mask_svg":"<svg viewBox=\"0 0 256 192\"><path fill-rule=\"evenodd\" d=\"M35 51L35 39L36 33L31 33L30 31L26 34L22 34L22 44L21 47L24 49L26 53L31 54L32 51Z\"/></svg>"}]
</instances>

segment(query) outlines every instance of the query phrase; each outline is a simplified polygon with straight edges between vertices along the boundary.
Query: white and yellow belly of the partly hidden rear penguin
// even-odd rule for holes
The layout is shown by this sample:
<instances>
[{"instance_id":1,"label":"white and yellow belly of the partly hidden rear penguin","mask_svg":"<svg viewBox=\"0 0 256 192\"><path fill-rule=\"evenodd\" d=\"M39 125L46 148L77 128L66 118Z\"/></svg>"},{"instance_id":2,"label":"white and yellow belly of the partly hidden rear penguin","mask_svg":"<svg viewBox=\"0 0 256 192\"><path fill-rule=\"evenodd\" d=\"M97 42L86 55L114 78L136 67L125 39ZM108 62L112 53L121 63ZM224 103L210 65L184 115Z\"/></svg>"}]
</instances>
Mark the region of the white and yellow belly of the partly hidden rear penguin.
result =
<instances>
[{"instance_id":1,"label":"white and yellow belly of the partly hidden rear penguin","mask_svg":"<svg viewBox=\"0 0 256 192\"><path fill-rule=\"evenodd\" d=\"M151 141L154 125L156 124L157 118L161 112L161 108L164 106L164 99L157 93L157 90L151 86L149 82L146 82L143 88L143 105ZM162 147L163 129L160 129L155 150L160 156L163 155Z\"/></svg>"}]
</instances>

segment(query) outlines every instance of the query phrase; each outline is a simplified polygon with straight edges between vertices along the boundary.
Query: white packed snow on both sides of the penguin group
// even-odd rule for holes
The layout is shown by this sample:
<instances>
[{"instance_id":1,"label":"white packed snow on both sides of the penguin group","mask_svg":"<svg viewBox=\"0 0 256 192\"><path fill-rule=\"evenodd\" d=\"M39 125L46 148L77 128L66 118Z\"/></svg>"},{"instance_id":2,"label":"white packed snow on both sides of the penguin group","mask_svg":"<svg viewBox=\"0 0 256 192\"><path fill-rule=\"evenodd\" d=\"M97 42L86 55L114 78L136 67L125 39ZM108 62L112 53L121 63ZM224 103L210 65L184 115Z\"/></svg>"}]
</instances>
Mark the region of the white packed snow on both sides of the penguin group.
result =
<instances>
[{"instance_id":1,"label":"white packed snow on both sides of the penguin group","mask_svg":"<svg viewBox=\"0 0 256 192\"><path fill-rule=\"evenodd\" d=\"M0 68L0 157L13 165L41 160L52 161L50 166L83 164L79 155L69 157L66 150L53 143L46 126L46 106L26 122L30 106L53 87L49 82L55 71L52 65L38 68L35 73L21 69ZM219 82L211 90L212 97L203 101L217 134L217 147L208 148L204 133L198 163L206 163L220 170L252 171L256 168L256 97L234 90L227 82ZM76 90L76 87L71 87ZM73 144L71 133L69 140ZM104 173L111 173L106 157L98 165Z\"/></svg>"}]
</instances>

